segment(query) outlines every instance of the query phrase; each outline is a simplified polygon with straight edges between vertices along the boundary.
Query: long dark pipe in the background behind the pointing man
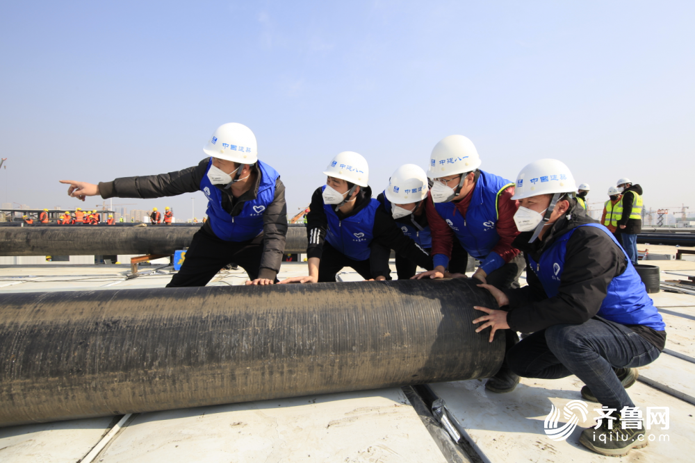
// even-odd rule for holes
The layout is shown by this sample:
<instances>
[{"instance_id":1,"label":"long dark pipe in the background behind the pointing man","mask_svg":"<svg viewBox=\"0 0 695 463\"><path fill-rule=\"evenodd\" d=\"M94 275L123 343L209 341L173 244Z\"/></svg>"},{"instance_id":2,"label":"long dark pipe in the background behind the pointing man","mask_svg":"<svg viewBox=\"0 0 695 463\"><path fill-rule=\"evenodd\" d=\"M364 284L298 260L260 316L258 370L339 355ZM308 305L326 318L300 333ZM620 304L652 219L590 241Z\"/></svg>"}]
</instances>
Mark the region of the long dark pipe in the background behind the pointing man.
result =
<instances>
[{"instance_id":1,"label":"long dark pipe in the background behind the pointing man","mask_svg":"<svg viewBox=\"0 0 695 463\"><path fill-rule=\"evenodd\" d=\"M200 226L26 226L0 228L0 255L173 254ZM306 253L306 228L290 226L285 251Z\"/></svg>"}]
</instances>

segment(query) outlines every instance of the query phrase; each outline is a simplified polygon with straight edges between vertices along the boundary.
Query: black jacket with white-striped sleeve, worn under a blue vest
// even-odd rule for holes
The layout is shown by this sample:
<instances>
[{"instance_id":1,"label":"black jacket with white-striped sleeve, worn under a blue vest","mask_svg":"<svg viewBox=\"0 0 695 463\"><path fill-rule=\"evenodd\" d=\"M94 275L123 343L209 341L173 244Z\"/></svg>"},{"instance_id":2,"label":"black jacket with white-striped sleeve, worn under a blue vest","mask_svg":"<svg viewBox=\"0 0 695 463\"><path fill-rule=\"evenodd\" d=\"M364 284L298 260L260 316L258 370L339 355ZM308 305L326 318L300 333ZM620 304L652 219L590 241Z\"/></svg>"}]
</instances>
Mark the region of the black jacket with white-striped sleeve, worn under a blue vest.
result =
<instances>
[{"instance_id":1,"label":"black jacket with white-striped sleeve, worn under a blue vest","mask_svg":"<svg viewBox=\"0 0 695 463\"><path fill-rule=\"evenodd\" d=\"M361 188L357 199L355 200L354 208L349 214L343 214L338 211L338 219L351 217L357 212L365 208L372 199L372 189L370 187ZM317 188L311 196L311 206L309 206L309 214L306 214L306 235L309 239L309 246L306 249L307 258L321 258L323 252L323 243L326 239L326 230L328 228L328 218L323 209L323 195L321 188ZM395 224L391 214L384 210L384 206L379 205L374 216L374 226L372 228L372 245L380 244L384 248L394 249L398 253L416 262L420 267L431 270L432 257L421 249L409 237L403 235L403 232ZM373 248L374 249L374 248ZM391 269L389 269L388 258L384 265L382 259L383 253L370 252L370 268L372 277L385 276L388 278ZM387 254L388 256L388 254Z\"/></svg>"}]
</instances>

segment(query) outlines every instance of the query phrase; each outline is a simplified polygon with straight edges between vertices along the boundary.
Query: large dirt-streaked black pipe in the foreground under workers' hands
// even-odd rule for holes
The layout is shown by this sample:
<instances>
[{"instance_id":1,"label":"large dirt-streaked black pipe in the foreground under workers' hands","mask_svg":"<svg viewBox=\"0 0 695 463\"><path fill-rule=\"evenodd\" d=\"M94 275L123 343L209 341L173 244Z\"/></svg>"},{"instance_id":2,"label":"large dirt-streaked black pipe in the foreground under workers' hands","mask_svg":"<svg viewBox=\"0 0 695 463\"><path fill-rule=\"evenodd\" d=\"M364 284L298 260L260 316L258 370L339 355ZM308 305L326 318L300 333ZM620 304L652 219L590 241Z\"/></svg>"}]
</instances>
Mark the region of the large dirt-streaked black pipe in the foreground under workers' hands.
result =
<instances>
[{"instance_id":1,"label":"large dirt-streaked black pipe in the foreground under workers' hands","mask_svg":"<svg viewBox=\"0 0 695 463\"><path fill-rule=\"evenodd\" d=\"M0 426L486 378L471 280L3 294Z\"/></svg>"}]
</instances>

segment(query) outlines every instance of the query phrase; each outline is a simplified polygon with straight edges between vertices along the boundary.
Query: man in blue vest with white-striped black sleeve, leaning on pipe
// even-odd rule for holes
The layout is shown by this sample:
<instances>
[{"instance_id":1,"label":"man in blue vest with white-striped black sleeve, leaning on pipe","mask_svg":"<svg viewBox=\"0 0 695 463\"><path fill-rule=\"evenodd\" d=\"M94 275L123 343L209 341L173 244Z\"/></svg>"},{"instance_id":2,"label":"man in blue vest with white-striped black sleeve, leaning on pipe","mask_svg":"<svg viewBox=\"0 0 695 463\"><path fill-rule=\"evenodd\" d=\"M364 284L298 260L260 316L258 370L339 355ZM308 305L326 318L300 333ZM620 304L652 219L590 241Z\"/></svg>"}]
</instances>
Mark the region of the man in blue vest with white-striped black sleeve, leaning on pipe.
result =
<instances>
[{"instance_id":1,"label":"man in blue vest with white-striped black sleeve, leaning on pipe","mask_svg":"<svg viewBox=\"0 0 695 463\"><path fill-rule=\"evenodd\" d=\"M373 243L432 269L430 255L405 236L391 214L372 198L369 167L362 155L353 151L338 153L323 174L327 176L326 185L313 193L306 215L309 276L281 283L333 282L344 267L351 267L365 280L390 279L388 260L384 262L381 254L372 253Z\"/></svg>"}]
</instances>

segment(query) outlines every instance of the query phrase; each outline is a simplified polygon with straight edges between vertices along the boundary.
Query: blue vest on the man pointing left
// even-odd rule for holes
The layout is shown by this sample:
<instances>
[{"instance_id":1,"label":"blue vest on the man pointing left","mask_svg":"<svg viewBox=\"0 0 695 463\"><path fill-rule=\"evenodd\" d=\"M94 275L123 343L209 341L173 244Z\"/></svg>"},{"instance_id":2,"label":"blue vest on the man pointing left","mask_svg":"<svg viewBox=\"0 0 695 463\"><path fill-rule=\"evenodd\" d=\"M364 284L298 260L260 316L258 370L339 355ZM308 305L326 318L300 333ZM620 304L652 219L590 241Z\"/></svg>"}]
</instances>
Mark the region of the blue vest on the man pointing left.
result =
<instances>
[{"instance_id":1,"label":"blue vest on the man pointing left","mask_svg":"<svg viewBox=\"0 0 695 463\"><path fill-rule=\"evenodd\" d=\"M275 198L275 181L280 174L264 162L258 161L261 183L256 192L256 199L246 201L240 214L231 217L229 212L222 208L222 192L218 187L210 183L208 170L213 165L210 158L205 175L200 180L200 191L208 199L208 218L215 235L224 241L243 242L254 239L263 232L263 212Z\"/></svg>"}]
</instances>

